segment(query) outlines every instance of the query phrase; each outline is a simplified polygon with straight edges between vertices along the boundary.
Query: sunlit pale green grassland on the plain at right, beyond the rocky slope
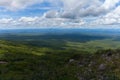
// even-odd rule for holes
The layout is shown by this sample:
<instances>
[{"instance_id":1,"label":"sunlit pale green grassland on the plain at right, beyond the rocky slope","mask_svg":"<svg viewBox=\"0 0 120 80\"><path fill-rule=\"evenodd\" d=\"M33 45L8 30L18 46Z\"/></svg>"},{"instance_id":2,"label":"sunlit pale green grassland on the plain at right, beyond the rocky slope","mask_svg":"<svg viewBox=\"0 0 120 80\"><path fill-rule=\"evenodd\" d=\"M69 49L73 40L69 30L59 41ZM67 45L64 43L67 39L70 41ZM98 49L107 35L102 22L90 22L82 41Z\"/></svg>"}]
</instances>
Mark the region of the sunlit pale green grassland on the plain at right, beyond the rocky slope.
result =
<instances>
[{"instance_id":1,"label":"sunlit pale green grassland on the plain at right, beyond the rocky slope","mask_svg":"<svg viewBox=\"0 0 120 80\"><path fill-rule=\"evenodd\" d=\"M88 41L85 43L81 42L66 42L67 47L76 50L88 51L88 52L96 52L101 49L119 49L120 41L114 41L113 39L105 39L105 40L94 40Z\"/></svg>"}]
</instances>

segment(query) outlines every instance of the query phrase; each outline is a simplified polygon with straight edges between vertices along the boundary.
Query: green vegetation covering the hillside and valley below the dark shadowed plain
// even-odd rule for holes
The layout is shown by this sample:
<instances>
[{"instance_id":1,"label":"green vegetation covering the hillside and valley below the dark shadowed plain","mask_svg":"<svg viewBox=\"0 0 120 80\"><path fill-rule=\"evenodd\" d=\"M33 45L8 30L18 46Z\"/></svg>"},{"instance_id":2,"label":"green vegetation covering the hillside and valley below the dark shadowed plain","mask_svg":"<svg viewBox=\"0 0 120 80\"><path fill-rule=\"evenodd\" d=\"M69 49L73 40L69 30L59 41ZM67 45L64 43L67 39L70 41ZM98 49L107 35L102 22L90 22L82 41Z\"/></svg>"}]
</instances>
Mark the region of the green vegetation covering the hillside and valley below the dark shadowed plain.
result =
<instances>
[{"instance_id":1,"label":"green vegetation covering the hillside and valley below the dark shadowed plain","mask_svg":"<svg viewBox=\"0 0 120 80\"><path fill-rule=\"evenodd\" d=\"M0 41L0 80L120 80L119 41L30 43Z\"/></svg>"}]
</instances>

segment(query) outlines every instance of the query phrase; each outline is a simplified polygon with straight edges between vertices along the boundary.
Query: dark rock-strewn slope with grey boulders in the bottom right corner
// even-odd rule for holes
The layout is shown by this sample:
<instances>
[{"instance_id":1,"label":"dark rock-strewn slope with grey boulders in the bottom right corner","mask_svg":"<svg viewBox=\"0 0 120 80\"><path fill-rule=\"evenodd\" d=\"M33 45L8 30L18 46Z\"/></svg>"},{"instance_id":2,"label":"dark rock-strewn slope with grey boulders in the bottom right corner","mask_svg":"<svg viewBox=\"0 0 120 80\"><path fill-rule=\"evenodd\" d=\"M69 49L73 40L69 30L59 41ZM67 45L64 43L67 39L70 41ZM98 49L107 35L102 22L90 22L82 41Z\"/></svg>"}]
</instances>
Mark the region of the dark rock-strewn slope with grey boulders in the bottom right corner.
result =
<instances>
[{"instance_id":1,"label":"dark rock-strewn slope with grey boulders in the bottom right corner","mask_svg":"<svg viewBox=\"0 0 120 80\"><path fill-rule=\"evenodd\" d=\"M103 50L79 59L79 80L120 80L120 50Z\"/></svg>"}]
</instances>

